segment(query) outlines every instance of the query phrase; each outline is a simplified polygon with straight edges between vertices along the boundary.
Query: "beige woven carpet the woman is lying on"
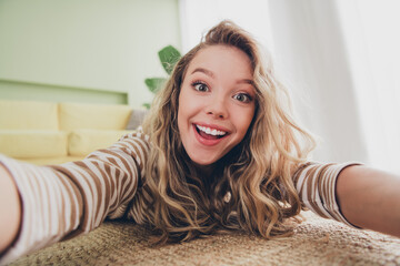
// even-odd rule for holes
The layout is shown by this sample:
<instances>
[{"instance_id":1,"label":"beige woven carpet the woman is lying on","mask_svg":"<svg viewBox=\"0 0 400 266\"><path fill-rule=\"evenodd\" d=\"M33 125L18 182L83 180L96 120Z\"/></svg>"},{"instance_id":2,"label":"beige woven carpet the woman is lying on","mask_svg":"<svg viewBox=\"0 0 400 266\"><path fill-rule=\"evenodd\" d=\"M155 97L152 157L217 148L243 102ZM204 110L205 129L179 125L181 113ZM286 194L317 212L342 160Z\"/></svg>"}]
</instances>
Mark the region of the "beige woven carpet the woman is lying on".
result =
<instances>
[{"instance_id":1,"label":"beige woven carpet the woman is lying on","mask_svg":"<svg viewBox=\"0 0 400 266\"><path fill-rule=\"evenodd\" d=\"M304 216L291 237L214 235L162 247L149 247L149 235L138 226L107 222L12 265L400 265L400 238Z\"/></svg>"}]
</instances>

